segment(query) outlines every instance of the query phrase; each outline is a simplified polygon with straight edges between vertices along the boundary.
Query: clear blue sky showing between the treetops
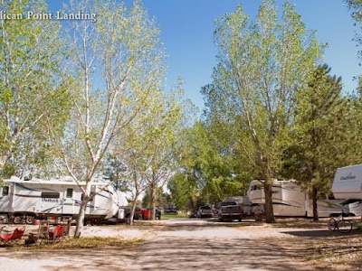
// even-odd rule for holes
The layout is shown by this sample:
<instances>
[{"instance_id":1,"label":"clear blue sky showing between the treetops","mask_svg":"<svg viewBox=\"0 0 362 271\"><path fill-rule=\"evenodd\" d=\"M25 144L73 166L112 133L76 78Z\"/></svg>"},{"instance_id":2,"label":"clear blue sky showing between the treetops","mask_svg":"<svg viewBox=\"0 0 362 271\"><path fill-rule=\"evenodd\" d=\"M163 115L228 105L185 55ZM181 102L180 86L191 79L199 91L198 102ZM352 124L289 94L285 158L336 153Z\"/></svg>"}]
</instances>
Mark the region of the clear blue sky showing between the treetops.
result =
<instances>
[{"instance_id":1,"label":"clear blue sky showing between the treetops","mask_svg":"<svg viewBox=\"0 0 362 271\"><path fill-rule=\"evenodd\" d=\"M49 3L52 6L52 1ZM214 20L233 12L238 4L254 18L261 3L262 0L143 0L148 15L157 20L167 50L167 88L174 86L180 76L185 81L186 98L201 109L204 102L200 89L212 81L216 64ZM281 10L284 1L277 3ZM358 66L357 44L352 41L356 28L343 0L291 0L291 3L296 5L306 26L317 31L319 42L328 42L325 62L332 68L331 74L342 77L346 92L356 89L353 77L361 74L362 68Z\"/></svg>"}]
</instances>

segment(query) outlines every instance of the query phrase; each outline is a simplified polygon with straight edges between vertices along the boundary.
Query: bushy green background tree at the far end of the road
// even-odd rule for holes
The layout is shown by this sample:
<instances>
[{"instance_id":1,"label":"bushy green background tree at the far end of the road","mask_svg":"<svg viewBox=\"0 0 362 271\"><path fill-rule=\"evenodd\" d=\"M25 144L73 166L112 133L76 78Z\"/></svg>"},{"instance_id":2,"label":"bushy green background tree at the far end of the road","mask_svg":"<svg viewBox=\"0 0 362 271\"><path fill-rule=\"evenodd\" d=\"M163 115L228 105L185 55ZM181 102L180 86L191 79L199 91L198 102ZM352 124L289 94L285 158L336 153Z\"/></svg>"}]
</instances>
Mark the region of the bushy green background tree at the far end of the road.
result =
<instances>
[{"instance_id":1,"label":"bushy green background tree at the far end of the road","mask_svg":"<svg viewBox=\"0 0 362 271\"><path fill-rule=\"evenodd\" d=\"M184 130L179 139L183 142L179 169L167 186L178 209L195 211L199 204L214 204L246 192L231 132L200 121Z\"/></svg>"}]
</instances>

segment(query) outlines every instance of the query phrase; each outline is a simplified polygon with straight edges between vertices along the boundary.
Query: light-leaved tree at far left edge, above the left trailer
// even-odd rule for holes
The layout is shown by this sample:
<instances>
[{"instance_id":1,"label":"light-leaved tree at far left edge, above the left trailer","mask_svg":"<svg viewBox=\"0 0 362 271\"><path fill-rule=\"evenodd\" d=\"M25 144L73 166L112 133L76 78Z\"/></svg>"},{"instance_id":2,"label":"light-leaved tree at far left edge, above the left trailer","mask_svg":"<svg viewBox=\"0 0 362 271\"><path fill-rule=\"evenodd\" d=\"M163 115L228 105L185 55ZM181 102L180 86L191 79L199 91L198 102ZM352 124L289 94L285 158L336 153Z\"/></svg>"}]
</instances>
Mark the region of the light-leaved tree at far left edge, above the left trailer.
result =
<instances>
[{"instance_id":1,"label":"light-leaved tree at far left edge, above the left trailer","mask_svg":"<svg viewBox=\"0 0 362 271\"><path fill-rule=\"evenodd\" d=\"M47 5L43 0L5 0L0 9L45 14ZM36 164L44 171L50 153L46 125L52 122L62 130L69 116L68 93L59 79L59 31L56 21L0 21L0 173L5 166L14 167L22 176L29 169L36 172Z\"/></svg>"}]
</instances>

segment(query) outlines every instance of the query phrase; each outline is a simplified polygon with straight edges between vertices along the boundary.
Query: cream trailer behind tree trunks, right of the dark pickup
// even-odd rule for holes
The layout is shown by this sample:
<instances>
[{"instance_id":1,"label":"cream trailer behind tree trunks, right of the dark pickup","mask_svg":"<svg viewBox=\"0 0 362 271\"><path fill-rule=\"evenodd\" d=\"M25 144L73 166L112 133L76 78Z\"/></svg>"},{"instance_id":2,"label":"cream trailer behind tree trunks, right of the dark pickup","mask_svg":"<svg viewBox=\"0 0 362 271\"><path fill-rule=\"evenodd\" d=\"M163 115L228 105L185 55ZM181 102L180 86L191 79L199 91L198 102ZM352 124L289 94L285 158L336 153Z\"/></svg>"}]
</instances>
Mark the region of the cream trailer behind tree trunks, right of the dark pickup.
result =
<instances>
[{"instance_id":1,"label":"cream trailer behind tree trunks, right of the dark pickup","mask_svg":"<svg viewBox=\"0 0 362 271\"><path fill-rule=\"evenodd\" d=\"M265 203L262 181L254 180L249 185L248 197L252 203ZM312 217L313 201L295 180L274 180L272 185L272 207L275 216ZM335 216L342 211L348 212L342 200L332 200L325 196L317 201L319 218Z\"/></svg>"}]
</instances>

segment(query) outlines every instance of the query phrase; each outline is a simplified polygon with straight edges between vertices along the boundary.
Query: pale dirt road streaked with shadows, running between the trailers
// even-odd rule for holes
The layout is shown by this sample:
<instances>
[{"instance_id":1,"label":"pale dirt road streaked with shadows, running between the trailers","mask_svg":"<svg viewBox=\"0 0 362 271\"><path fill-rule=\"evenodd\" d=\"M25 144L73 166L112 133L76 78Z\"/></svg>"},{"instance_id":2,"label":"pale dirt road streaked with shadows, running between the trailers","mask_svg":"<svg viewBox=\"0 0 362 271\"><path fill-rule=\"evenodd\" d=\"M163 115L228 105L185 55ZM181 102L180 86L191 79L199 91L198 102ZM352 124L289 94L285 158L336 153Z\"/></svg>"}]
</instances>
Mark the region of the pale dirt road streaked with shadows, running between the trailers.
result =
<instances>
[{"instance_id":1,"label":"pale dirt road streaked with shadows, running between the trailers","mask_svg":"<svg viewBox=\"0 0 362 271\"><path fill-rule=\"evenodd\" d=\"M209 220L165 221L165 226L137 229L146 241L134 250L114 248L0 252L0 270L312 270L297 261L303 250L282 248L279 229L227 227ZM106 228L110 231L110 228ZM127 230L127 229L126 229ZM101 235L101 227L85 235ZM111 236L122 235L117 227ZM26 266L26 267L25 267ZM24 268L25 267L25 268Z\"/></svg>"}]
</instances>

